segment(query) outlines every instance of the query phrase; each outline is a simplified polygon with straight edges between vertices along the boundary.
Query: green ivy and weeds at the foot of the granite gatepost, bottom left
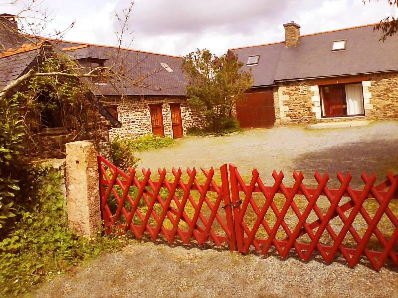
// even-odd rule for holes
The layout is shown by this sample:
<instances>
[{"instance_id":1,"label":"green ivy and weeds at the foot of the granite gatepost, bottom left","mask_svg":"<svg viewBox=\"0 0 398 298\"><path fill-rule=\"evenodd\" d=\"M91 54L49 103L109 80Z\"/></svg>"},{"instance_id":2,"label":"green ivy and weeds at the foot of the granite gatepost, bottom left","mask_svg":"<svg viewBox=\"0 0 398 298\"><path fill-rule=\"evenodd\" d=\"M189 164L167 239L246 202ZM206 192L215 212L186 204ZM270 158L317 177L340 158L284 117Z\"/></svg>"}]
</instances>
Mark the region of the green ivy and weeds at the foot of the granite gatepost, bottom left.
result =
<instances>
[{"instance_id":1,"label":"green ivy and weeds at the foot of the granite gatepost, bottom left","mask_svg":"<svg viewBox=\"0 0 398 298\"><path fill-rule=\"evenodd\" d=\"M35 168L34 196L8 237L0 242L0 296L29 291L47 278L67 271L88 258L122 247L120 236L87 238L68 230L60 177L49 169Z\"/></svg>"}]
</instances>

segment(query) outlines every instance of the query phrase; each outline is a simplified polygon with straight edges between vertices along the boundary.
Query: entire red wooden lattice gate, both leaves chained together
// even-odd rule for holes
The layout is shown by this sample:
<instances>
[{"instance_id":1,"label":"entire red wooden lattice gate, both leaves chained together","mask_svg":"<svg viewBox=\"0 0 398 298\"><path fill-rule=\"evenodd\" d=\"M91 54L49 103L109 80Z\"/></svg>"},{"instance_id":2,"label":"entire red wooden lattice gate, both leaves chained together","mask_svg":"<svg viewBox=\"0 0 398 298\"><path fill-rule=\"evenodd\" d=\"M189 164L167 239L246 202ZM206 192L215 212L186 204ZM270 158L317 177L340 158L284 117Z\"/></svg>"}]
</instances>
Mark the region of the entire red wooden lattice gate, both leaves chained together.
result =
<instances>
[{"instance_id":1,"label":"entire red wooden lattice gate, both leaves chained together","mask_svg":"<svg viewBox=\"0 0 398 298\"><path fill-rule=\"evenodd\" d=\"M98 162L107 233L130 230L137 238L147 233L169 243L226 243L243 253L274 249L283 258L293 249L303 260L316 250L327 263L340 253L350 267L365 256L376 270L388 259L398 265L398 175L388 173L375 185L374 174L362 174L365 185L358 190L349 186L350 173L338 173L341 186L331 189L328 174L316 172L318 187L307 188L303 174L296 172L292 187L275 171L273 185L266 186L256 169L246 184L233 165L230 178L223 165L220 179L213 168L201 169L199 179L194 168L185 175L181 169L169 175L158 169L152 180L150 170L138 175L130 168L126 174L100 155Z\"/></svg>"}]
</instances>

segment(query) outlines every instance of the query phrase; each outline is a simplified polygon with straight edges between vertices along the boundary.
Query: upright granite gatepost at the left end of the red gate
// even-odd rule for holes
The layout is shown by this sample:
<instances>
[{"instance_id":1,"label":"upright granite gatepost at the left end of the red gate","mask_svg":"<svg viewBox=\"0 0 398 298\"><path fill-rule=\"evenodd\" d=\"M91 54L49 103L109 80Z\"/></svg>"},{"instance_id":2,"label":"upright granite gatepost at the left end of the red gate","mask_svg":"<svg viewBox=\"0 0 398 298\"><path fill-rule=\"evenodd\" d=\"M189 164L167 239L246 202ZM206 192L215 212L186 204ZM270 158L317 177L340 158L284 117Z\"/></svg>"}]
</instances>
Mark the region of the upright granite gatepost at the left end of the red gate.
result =
<instances>
[{"instance_id":1,"label":"upright granite gatepost at the left end of the red gate","mask_svg":"<svg viewBox=\"0 0 398 298\"><path fill-rule=\"evenodd\" d=\"M69 228L94 236L101 224L96 150L88 141L67 143L65 147Z\"/></svg>"}]
</instances>

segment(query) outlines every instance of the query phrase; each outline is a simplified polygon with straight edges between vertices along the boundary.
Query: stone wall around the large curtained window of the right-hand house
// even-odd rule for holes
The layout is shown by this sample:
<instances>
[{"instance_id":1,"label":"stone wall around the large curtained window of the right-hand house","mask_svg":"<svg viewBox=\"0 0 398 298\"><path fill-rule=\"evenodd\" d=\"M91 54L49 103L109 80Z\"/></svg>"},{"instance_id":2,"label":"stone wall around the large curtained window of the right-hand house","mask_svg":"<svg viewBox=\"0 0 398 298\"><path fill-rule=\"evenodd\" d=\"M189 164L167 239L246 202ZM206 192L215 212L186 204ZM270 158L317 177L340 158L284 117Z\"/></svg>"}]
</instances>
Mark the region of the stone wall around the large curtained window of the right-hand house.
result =
<instances>
[{"instance_id":1,"label":"stone wall around the large curtained window of the right-hand house","mask_svg":"<svg viewBox=\"0 0 398 298\"><path fill-rule=\"evenodd\" d=\"M362 82L365 116L336 118L322 118L319 81L281 83L274 87L276 124L398 118L398 73L369 74L358 82Z\"/></svg>"}]
</instances>

